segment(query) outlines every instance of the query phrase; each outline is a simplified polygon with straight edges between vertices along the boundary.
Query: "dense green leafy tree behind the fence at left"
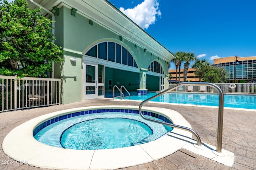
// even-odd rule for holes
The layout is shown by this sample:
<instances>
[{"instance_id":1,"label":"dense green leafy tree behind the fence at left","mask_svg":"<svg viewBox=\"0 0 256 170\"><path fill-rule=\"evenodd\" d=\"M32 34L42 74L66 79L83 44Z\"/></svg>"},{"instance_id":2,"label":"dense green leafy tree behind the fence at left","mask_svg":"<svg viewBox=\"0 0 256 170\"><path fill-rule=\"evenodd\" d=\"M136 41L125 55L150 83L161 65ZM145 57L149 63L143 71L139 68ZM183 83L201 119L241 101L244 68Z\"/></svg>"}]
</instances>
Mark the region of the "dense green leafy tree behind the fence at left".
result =
<instances>
[{"instance_id":1,"label":"dense green leafy tree behind the fence at left","mask_svg":"<svg viewBox=\"0 0 256 170\"><path fill-rule=\"evenodd\" d=\"M64 61L61 47L52 42L52 21L40 12L30 10L26 0L0 0L0 74L46 76L52 62Z\"/></svg>"}]
</instances>

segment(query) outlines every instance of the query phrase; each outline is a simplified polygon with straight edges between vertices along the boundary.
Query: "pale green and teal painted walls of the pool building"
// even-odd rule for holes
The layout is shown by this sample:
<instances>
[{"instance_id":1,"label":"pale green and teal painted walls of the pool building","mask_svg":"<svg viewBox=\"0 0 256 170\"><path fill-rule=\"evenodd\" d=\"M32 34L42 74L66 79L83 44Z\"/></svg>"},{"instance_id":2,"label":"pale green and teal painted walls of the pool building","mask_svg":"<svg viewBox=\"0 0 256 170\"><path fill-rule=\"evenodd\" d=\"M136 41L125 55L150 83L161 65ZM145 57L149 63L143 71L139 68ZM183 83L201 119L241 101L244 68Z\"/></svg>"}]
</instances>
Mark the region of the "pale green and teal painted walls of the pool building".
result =
<instances>
[{"instance_id":1,"label":"pale green and teal painted walls of the pool building","mask_svg":"<svg viewBox=\"0 0 256 170\"><path fill-rule=\"evenodd\" d=\"M60 8L59 16L56 16L55 23L55 43L62 47L65 51L64 53L64 63L55 65L55 78L59 78L62 75L65 76L76 76L76 78L63 78L62 82L62 104L68 104L73 102L80 102L83 100L82 97L82 80L83 80L83 64L82 55L93 45L102 41L114 41L123 45L134 57L136 63L138 64L138 71L140 68L147 69L152 61L158 61L165 74L168 74L168 64L167 61L159 59L155 55L151 55L150 52L144 52L144 48L137 45L135 47L134 43L128 41L123 37L120 41L119 34L113 33L108 29L102 27L93 21L93 25L89 24L89 19L76 13L76 16L71 15L71 9L62 6ZM70 58L76 56L76 62L71 62ZM106 73L111 73L110 69L106 68ZM113 70L112 70L113 71ZM116 73L118 72L118 73ZM114 82L122 82L127 89L137 89L137 78L139 78L139 73L128 72L128 71L115 71L108 75L105 73L105 83L108 82L109 77L112 76ZM147 81L150 82L150 89L159 90L159 83L154 83L156 78L154 76L148 76ZM152 80L150 78L153 78ZM159 82L159 77L158 80ZM129 86L130 83L130 86ZM148 82L146 82L148 84ZM114 86L114 84L113 84ZM155 88L151 86L156 86ZM106 88L106 87L105 87ZM148 87L147 87L148 88Z\"/></svg>"}]
</instances>

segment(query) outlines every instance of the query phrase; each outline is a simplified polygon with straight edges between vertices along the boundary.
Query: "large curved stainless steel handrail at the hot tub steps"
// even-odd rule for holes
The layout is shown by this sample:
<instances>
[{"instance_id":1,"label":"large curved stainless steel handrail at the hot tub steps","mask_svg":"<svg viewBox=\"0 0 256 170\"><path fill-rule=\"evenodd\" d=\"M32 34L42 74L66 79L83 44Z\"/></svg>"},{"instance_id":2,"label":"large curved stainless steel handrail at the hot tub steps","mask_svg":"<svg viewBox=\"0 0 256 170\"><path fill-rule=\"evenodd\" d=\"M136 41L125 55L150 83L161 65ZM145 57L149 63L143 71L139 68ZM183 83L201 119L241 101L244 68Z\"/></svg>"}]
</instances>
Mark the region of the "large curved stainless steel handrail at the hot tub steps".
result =
<instances>
[{"instance_id":1,"label":"large curved stainless steel handrail at the hot tub steps","mask_svg":"<svg viewBox=\"0 0 256 170\"><path fill-rule=\"evenodd\" d=\"M208 85L208 86L211 86L213 88L216 88L218 90L218 93L219 93L219 109L218 109L218 132L217 132L217 149L216 151L218 153L221 153L221 149L222 149L222 129L223 129L223 111L224 111L224 94L222 92L222 90L220 89L220 87L218 87L217 85L215 84L212 84L212 83L208 83L208 82L200 82L200 83L196 83L196 82L182 82L182 83L179 83L177 84L176 86L173 86L171 88L168 88L166 90L164 90L163 92L160 92L158 94L156 94L155 96L152 96L151 98L148 98L146 100L144 100L143 102L141 102L140 106L139 106L139 113L140 113L140 116L143 118L143 119L146 119L148 121L153 121L153 122L156 122L156 123L160 123L160 124L164 124L164 125L168 125L170 127L176 127L178 129L183 129L185 131L189 131L190 133L192 133L195 137L196 137L196 141L197 141L197 145L198 146L201 146L202 143L201 143L201 139L200 137L198 136L198 134L190 129L190 128L187 128L187 127L182 127L182 126L179 126L179 125L174 125L172 123L166 123L166 122L161 122L161 121L157 121L157 120L154 120L154 119L150 119L148 117L145 117L143 114L142 114L142 105L145 104L146 102L154 99L154 98L157 98L158 96L161 96L162 94L165 94L175 88L178 88L182 85L186 85L186 84L189 84L189 85L194 85L194 86L197 86L197 85Z\"/></svg>"}]
</instances>

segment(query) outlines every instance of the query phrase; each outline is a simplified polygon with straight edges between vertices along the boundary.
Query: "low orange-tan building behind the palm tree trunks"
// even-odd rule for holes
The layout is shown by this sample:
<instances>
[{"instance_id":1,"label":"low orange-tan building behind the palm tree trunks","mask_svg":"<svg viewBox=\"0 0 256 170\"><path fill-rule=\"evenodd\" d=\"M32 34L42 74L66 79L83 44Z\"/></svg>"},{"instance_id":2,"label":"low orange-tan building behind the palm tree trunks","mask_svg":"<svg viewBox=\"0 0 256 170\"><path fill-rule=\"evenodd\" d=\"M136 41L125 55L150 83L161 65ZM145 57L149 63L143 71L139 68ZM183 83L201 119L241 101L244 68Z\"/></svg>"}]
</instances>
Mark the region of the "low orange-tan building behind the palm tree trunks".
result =
<instances>
[{"instance_id":1,"label":"low orange-tan building behind the palm tree trunks","mask_svg":"<svg viewBox=\"0 0 256 170\"><path fill-rule=\"evenodd\" d=\"M184 82L183 70L184 70L184 68L180 69L180 82ZM199 78L195 78L194 71L196 71L194 68L188 68L187 81L199 82ZM169 83L175 83L176 82L176 69L169 70L169 74L172 74L172 77L173 77L173 78L169 78ZM177 74L177 82L179 82L179 70L178 70L178 74Z\"/></svg>"}]
</instances>

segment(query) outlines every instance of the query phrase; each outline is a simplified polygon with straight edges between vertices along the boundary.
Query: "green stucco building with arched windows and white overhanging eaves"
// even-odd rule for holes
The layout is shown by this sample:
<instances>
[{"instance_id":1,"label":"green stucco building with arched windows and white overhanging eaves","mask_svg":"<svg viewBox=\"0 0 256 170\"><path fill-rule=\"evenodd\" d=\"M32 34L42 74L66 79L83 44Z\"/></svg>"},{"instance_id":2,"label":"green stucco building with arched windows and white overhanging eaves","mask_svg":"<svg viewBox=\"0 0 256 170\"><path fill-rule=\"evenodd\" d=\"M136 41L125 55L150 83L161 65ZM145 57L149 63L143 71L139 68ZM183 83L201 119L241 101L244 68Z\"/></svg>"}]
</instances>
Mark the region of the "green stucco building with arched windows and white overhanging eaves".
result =
<instances>
[{"instance_id":1,"label":"green stucco building with arched windows and white overhanging eaves","mask_svg":"<svg viewBox=\"0 0 256 170\"><path fill-rule=\"evenodd\" d=\"M174 55L108 0L28 0L31 8L56 21L56 45L63 64L62 103L102 98L114 85L146 94L168 88L168 64Z\"/></svg>"}]
</instances>

